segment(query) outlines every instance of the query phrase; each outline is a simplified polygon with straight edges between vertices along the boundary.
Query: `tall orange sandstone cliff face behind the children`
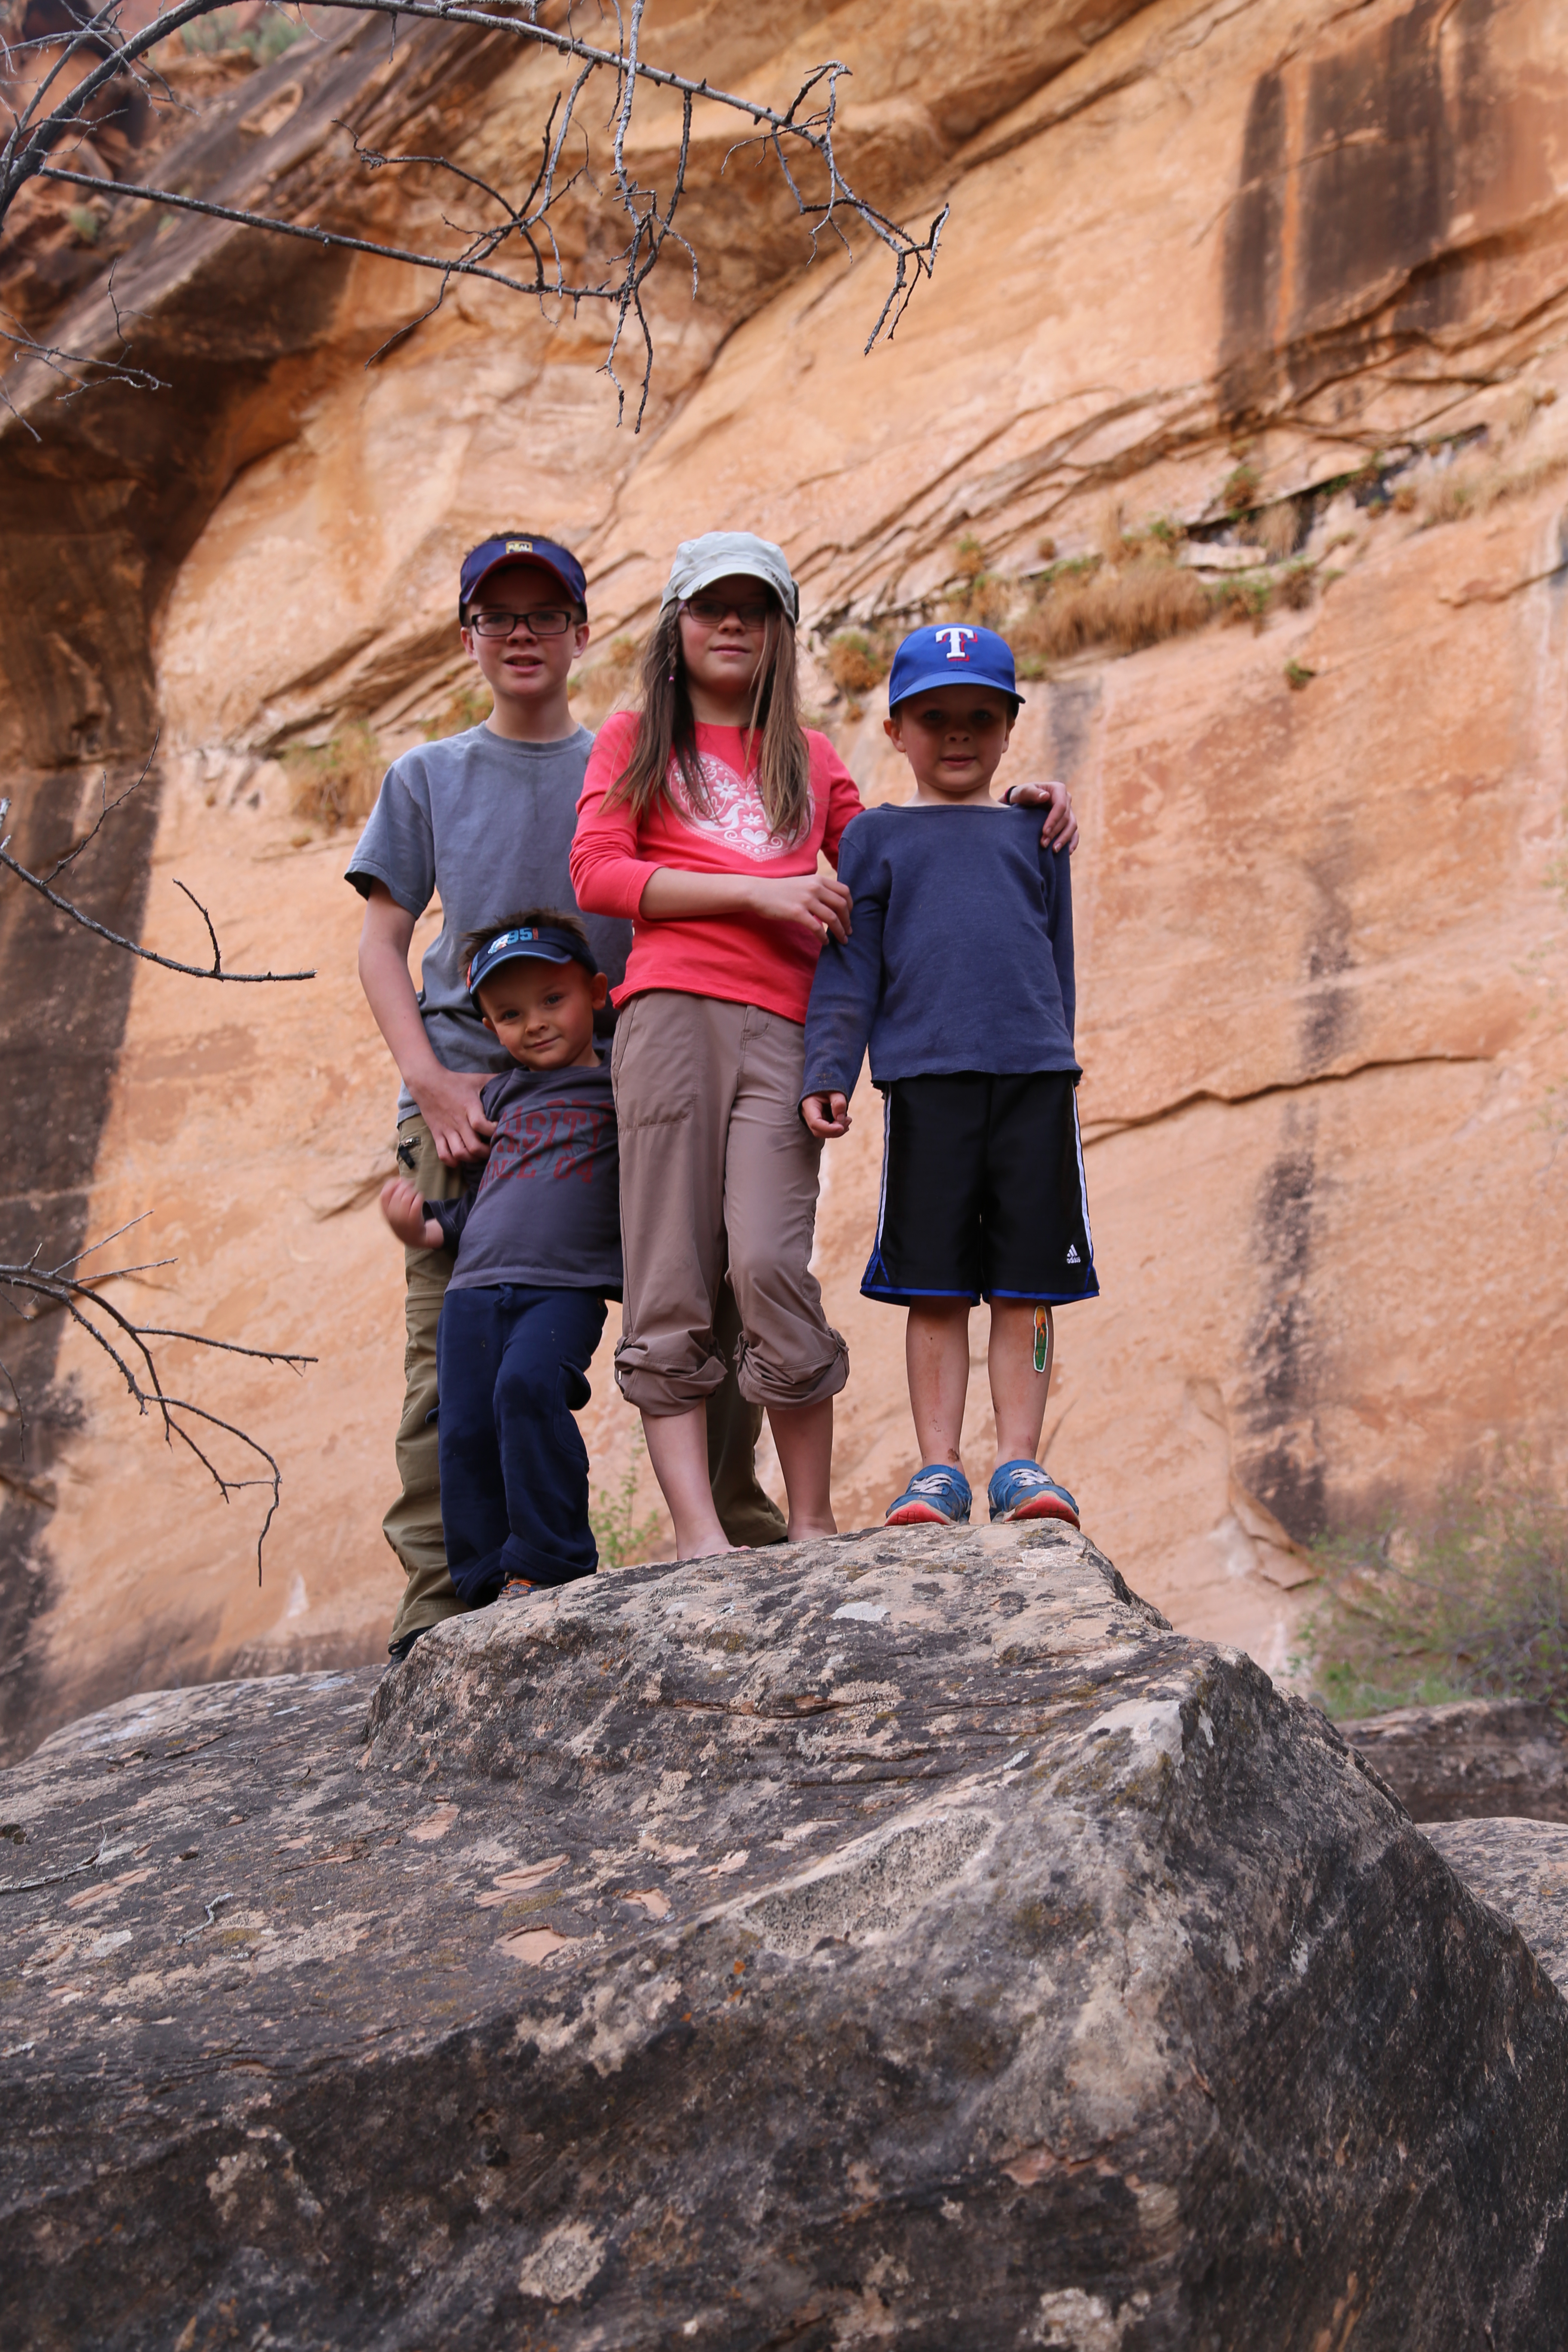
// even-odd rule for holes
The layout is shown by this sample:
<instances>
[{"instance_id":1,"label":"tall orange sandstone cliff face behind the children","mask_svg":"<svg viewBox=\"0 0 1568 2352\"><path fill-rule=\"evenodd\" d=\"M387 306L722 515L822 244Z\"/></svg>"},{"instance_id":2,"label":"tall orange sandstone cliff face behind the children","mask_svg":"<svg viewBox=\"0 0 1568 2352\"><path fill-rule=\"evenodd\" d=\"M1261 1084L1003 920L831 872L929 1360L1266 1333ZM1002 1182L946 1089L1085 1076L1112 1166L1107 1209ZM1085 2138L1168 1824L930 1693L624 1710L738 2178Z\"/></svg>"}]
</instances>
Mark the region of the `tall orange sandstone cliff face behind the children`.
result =
<instances>
[{"instance_id":1,"label":"tall orange sandstone cliff face behind the children","mask_svg":"<svg viewBox=\"0 0 1568 2352\"><path fill-rule=\"evenodd\" d=\"M195 948L179 875L235 953L277 946L320 981L214 1004L96 948L59 981L49 924L0 901L28 1073L5 1214L63 1254L150 1211L150 1254L179 1258L158 1277L169 1322L277 1336L322 1369L216 1376L214 1404L287 1468L256 1592L242 1512L179 1465L153 1477L113 1374L73 1345L56 1367L56 1329L33 1334L24 1369L59 1385L33 1465L7 1456L14 1752L136 1684L386 1639L400 1272L369 1202L393 1080L353 981L346 840L301 823L273 755L353 722L393 750L442 722L456 560L498 517L583 550L599 652L644 628L679 536L780 539L816 630L811 699L870 797L900 790L877 696L835 696L816 654L844 621L936 612L961 536L1009 626L1046 539L1093 557L1166 517L1211 581L1305 562L1309 600L1276 595L1255 628L1244 600L1244 626L1088 644L1027 684L1013 774L1065 774L1084 814L1103 1275L1063 1315L1051 1463L1173 1623L1272 1672L1324 1526L1418 1517L1512 1446L1556 1472L1566 26L1547 0L997 0L954 40L938 0L783 28L670 0L654 52L696 49L729 87L785 92L846 56L846 162L879 202L952 198L952 219L936 282L863 360L867 256L804 270L766 181L719 174L705 146L703 294L661 299L639 437L614 428L590 322L458 292L367 372L414 308L383 263L127 233L118 296L174 390L45 402L38 447L7 433L19 840L68 847L96 762L127 781L160 722L158 823L87 891L106 920L146 896L148 938ZM355 174L334 120L510 183L550 87L440 28L393 75L350 28L214 101L165 167L414 233L437 193ZM649 179L663 139L649 118ZM106 332L101 280L75 303L61 332ZM1241 501L1258 520L1232 520ZM623 682L602 666L581 708ZM844 1524L912 1468L900 1317L858 1298L877 1127L867 1091L820 1211L853 1359ZM614 1486L630 1423L611 1341L588 1435ZM976 1404L976 1454L987 1435ZM651 1501L644 1482L637 1512Z\"/></svg>"}]
</instances>

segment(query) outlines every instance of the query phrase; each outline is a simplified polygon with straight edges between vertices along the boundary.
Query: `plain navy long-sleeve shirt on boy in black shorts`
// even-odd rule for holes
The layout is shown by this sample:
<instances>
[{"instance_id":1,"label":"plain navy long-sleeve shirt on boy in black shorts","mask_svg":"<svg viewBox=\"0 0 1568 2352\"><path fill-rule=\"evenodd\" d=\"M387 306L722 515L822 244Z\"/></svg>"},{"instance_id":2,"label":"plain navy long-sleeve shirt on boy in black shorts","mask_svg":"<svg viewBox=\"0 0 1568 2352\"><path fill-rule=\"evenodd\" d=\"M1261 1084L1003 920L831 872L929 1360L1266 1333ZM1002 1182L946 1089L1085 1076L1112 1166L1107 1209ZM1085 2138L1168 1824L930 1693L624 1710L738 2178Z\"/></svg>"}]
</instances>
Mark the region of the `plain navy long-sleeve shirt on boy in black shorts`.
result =
<instances>
[{"instance_id":1,"label":"plain navy long-sleeve shirt on boy in black shorts","mask_svg":"<svg viewBox=\"0 0 1568 2352\"><path fill-rule=\"evenodd\" d=\"M1072 1070L1072 868L1039 809L865 809L844 833L851 936L830 938L806 1011L802 1094L952 1070Z\"/></svg>"}]
</instances>

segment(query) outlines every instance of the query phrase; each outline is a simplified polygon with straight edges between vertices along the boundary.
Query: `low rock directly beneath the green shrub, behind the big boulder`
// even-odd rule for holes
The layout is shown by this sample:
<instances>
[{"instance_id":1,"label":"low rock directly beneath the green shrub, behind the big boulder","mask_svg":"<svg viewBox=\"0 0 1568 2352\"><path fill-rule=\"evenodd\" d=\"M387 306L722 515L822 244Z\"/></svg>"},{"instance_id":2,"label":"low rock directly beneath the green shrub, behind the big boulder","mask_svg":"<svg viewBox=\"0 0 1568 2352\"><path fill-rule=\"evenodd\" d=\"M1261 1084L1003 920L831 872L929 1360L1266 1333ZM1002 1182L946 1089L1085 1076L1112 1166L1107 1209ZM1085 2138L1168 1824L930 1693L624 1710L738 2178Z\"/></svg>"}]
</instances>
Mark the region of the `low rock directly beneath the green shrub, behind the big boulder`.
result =
<instances>
[{"instance_id":1,"label":"low rock directly beneath the green shrub, behind the big boulder","mask_svg":"<svg viewBox=\"0 0 1568 2352\"><path fill-rule=\"evenodd\" d=\"M1552 1708L1469 1698L1340 1724L1410 1820L1568 1820L1568 1736Z\"/></svg>"}]
</instances>

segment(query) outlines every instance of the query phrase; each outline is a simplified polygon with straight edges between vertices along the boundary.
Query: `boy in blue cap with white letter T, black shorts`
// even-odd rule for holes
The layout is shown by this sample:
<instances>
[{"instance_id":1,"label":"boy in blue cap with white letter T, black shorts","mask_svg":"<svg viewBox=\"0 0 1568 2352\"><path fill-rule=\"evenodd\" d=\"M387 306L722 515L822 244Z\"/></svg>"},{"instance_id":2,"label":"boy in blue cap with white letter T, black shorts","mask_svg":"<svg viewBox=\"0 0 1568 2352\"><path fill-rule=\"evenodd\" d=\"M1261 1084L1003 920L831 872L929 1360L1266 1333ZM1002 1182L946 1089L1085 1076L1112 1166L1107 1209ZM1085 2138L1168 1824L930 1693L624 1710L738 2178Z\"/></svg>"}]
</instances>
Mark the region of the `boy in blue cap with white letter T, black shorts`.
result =
<instances>
[{"instance_id":1,"label":"boy in blue cap with white letter T, black shorts","mask_svg":"<svg viewBox=\"0 0 1568 2352\"><path fill-rule=\"evenodd\" d=\"M1084 1202L1072 1049L1072 870L1039 816L992 800L1023 696L1004 637L917 628L893 656L886 734L914 797L844 833L849 938L830 938L806 1014L802 1117L849 1129L870 1044L884 1162L867 1298L910 1310L905 1362L922 1468L889 1526L969 1519L959 1456L969 1310L990 1298L992 1519L1067 1519L1041 1470L1051 1310L1100 1289ZM940 823L938 823L940 818Z\"/></svg>"}]
</instances>

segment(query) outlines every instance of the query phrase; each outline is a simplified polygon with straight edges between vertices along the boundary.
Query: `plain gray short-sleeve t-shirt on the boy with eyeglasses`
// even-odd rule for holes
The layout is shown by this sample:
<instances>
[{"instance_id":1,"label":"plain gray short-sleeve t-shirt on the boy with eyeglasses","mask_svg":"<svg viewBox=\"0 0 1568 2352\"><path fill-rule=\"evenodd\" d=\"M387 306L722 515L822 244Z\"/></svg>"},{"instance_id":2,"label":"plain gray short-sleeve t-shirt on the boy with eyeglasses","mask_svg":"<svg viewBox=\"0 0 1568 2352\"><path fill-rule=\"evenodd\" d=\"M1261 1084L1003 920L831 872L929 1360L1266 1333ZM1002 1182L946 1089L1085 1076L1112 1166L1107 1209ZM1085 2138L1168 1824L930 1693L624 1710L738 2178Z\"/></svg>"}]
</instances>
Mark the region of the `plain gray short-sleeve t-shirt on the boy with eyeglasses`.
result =
<instances>
[{"instance_id":1,"label":"plain gray short-sleeve t-shirt on the boy with eyeglasses","mask_svg":"<svg viewBox=\"0 0 1568 2352\"><path fill-rule=\"evenodd\" d=\"M425 948L418 1009L430 1051L447 1070L512 1068L468 1002L461 941L531 906L576 910L567 858L590 750L585 727L559 743L510 743L489 727L470 727L404 750L386 771L346 880L362 898L371 882L386 882L409 915L423 915L440 894L442 929ZM632 927L611 915L583 922L616 988ZM404 1087L397 1117L416 1110Z\"/></svg>"}]
</instances>

